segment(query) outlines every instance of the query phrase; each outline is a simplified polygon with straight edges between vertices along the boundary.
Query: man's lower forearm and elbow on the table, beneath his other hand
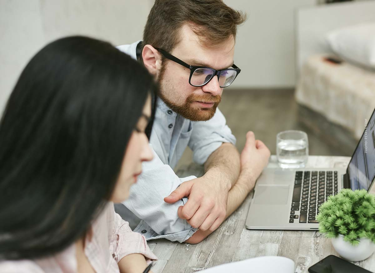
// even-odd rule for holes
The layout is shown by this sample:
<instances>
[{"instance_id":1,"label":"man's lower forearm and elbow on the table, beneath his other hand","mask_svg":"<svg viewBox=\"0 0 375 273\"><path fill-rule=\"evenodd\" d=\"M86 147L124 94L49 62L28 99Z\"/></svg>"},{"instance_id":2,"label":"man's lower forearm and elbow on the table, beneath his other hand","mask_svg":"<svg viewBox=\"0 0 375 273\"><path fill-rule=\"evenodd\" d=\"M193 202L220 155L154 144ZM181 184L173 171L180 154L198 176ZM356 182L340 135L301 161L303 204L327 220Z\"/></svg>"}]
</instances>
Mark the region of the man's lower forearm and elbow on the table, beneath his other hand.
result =
<instances>
[{"instance_id":1,"label":"man's lower forearm and elbow on the table, beneath his other hand","mask_svg":"<svg viewBox=\"0 0 375 273\"><path fill-rule=\"evenodd\" d=\"M226 205L226 215L225 219L229 217L236 209L242 204L249 192L254 188L256 179L254 181L249 181L249 176L240 175L237 182L233 185L228 194L228 202ZM199 243L205 237L210 235L213 231L206 230L197 230L192 237L187 239L186 243Z\"/></svg>"}]
</instances>

